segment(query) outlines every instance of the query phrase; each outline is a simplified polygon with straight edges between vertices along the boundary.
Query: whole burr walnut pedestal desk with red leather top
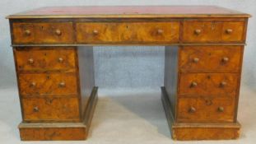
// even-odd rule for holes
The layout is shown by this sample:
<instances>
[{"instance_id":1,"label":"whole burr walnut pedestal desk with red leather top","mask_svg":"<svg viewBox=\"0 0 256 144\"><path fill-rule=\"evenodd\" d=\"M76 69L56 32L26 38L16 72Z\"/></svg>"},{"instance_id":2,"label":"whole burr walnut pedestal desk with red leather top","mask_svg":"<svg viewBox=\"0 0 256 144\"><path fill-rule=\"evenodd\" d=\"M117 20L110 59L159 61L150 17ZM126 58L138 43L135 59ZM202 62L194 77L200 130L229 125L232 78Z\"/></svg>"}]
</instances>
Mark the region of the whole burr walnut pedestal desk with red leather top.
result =
<instances>
[{"instance_id":1,"label":"whole burr walnut pedestal desk with red leather top","mask_svg":"<svg viewBox=\"0 0 256 144\"><path fill-rule=\"evenodd\" d=\"M162 102L172 137L239 137L248 14L215 6L44 7L7 18L21 140L86 139L97 102L94 45L164 45Z\"/></svg>"}]
</instances>

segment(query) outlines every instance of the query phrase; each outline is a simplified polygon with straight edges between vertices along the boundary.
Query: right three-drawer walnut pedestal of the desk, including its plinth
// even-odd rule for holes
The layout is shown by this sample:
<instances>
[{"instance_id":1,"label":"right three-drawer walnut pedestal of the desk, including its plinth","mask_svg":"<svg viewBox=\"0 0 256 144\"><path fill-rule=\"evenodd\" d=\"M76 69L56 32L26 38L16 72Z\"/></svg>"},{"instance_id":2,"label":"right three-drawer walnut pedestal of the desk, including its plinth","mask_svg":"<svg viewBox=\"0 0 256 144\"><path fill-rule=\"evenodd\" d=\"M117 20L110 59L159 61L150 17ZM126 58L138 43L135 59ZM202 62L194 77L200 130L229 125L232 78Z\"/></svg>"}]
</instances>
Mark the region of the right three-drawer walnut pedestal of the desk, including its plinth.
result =
<instances>
[{"instance_id":1,"label":"right three-drawer walnut pedestal of the desk, including its plinth","mask_svg":"<svg viewBox=\"0 0 256 144\"><path fill-rule=\"evenodd\" d=\"M162 102L175 140L240 136L237 108L243 46L165 47Z\"/></svg>"}]
</instances>

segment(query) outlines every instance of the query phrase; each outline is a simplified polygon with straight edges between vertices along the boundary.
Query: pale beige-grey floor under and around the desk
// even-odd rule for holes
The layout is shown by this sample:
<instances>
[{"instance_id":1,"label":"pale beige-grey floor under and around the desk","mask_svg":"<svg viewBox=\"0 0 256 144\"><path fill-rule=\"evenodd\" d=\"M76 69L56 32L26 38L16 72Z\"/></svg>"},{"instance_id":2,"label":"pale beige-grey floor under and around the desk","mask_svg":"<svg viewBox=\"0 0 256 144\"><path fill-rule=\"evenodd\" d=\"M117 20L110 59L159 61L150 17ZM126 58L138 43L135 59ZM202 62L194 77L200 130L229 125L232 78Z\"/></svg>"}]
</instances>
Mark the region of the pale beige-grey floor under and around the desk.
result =
<instances>
[{"instance_id":1,"label":"pale beige-grey floor under and around the desk","mask_svg":"<svg viewBox=\"0 0 256 144\"><path fill-rule=\"evenodd\" d=\"M18 123L21 109L16 89L0 90L0 143L255 143L256 142L256 91L242 88L238 119L241 136L231 141L177 142L170 138L161 90L119 89L99 91L99 101L86 141L78 142L21 142ZM255 115L254 115L255 114Z\"/></svg>"}]
</instances>

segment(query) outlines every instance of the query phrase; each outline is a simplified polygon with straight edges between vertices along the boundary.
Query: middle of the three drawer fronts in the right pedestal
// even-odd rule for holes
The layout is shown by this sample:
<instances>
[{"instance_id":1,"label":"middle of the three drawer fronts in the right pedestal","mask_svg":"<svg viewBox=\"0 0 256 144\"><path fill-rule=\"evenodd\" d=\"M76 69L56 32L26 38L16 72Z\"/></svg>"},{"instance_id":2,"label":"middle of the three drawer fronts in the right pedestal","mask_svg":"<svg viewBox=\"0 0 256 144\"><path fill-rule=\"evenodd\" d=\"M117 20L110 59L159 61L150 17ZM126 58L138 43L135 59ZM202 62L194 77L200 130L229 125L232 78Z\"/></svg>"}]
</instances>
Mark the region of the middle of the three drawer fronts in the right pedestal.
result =
<instances>
[{"instance_id":1,"label":"middle of the three drawer fronts in the right pedestal","mask_svg":"<svg viewBox=\"0 0 256 144\"><path fill-rule=\"evenodd\" d=\"M235 95L237 73L181 73L180 95Z\"/></svg>"}]
</instances>

